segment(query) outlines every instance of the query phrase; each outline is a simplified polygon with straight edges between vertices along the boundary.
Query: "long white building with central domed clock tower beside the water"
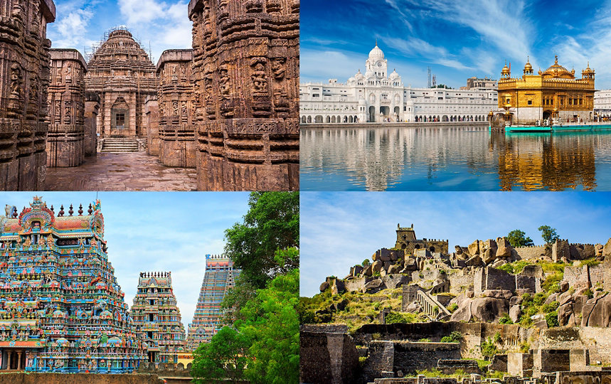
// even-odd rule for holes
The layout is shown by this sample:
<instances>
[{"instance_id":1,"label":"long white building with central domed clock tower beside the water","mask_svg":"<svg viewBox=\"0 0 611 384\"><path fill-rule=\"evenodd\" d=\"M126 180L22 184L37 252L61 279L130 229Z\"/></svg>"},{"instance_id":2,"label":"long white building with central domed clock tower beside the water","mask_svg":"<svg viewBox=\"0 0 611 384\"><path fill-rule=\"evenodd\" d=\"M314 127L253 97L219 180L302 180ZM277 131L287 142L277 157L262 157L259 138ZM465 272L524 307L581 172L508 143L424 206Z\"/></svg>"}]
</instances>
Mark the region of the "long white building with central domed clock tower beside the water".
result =
<instances>
[{"instance_id":1,"label":"long white building with central domed clock tower beside the water","mask_svg":"<svg viewBox=\"0 0 611 384\"><path fill-rule=\"evenodd\" d=\"M494 82L496 84L496 82ZM358 73L345 84L299 85L299 117L308 123L485 122L498 109L496 87L461 90L405 87L400 75L388 74L378 44Z\"/></svg>"}]
</instances>

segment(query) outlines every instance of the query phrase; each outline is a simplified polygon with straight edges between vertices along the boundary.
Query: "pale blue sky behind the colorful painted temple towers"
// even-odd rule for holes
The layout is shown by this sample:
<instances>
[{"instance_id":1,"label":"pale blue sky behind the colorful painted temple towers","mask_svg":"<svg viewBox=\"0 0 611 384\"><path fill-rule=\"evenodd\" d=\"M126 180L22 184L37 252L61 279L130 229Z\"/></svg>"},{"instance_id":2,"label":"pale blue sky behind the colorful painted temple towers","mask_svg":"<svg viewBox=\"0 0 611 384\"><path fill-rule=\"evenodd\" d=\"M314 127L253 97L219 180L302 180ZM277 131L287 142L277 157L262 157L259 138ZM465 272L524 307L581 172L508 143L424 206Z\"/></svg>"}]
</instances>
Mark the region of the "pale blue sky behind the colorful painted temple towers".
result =
<instances>
[{"instance_id":1,"label":"pale blue sky behind the colorful painted temple towers","mask_svg":"<svg viewBox=\"0 0 611 384\"><path fill-rule=\"evenodd\" d=\"M28 207L33 192L0 192L1 206ZM38 193L47 205L65 215L73 204L85 212L95 192ZM245 192L100 192L108 259L131 307L139 272L172 272L172 287L185 331L193 319L206 254L223 252L224 231L242 222L248 211ZM4 209L2 210L4 214Z\"/></svg>"}]
</instances>

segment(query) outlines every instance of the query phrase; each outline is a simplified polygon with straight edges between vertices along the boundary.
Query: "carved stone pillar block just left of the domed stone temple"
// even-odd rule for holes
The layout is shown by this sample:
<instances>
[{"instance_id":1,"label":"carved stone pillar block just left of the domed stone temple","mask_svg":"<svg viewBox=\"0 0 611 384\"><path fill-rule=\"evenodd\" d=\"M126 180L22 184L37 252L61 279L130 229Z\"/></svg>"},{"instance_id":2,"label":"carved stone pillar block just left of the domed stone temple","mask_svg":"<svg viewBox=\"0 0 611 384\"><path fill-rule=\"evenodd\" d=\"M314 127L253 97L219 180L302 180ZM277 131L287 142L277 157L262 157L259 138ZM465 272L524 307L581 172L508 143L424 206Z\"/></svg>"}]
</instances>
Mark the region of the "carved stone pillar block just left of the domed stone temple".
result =
<instances>
[{"instance_id":1,"label":"carved stone pillar block just left of the domed stone temple","mask_svg":"<svg viewBox=\"0 0 611 384\"><path fill-rule=\"evenodd\" d=\"M86 72L78 50L51 49L47 166L78 166L85 161Z\"/></svg>"}]
</instances>

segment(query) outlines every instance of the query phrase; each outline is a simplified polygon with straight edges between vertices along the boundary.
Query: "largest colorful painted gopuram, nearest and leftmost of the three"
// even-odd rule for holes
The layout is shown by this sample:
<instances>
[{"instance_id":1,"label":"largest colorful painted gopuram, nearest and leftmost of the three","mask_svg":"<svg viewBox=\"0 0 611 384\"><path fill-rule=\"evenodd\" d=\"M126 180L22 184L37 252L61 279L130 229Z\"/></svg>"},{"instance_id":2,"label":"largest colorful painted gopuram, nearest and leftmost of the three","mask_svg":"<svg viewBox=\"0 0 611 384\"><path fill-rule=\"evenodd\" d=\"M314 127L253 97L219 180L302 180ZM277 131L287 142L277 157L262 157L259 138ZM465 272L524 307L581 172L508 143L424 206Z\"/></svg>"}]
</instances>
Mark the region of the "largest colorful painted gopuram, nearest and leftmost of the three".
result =
<instances>
[{"instance_id":1,"label":"largest colorful painted gopuram, nearest and leftmost of the three","mask_svg":"<svg viewBox=\"0 0 611 384\"><path fill-rule=\"evenodd\" d=\"M1 369L126 373L147 359L108 261L100 201L68 215L41 198L0 235ZM75 215L73 215L75 214Z\"/></svg>"}]
</instances>

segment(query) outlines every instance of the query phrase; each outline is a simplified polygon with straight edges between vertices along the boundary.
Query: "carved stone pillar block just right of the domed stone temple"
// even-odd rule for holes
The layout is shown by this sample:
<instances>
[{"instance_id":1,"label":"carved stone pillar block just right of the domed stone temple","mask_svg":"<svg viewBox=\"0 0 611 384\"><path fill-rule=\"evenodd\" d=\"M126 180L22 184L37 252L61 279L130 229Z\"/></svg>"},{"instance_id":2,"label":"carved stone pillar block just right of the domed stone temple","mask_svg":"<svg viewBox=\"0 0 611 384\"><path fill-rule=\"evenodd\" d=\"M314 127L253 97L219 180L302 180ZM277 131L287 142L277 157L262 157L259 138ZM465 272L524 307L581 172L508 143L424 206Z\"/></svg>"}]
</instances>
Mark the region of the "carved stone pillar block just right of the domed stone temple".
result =
<instances>
[{"instance_id":1,"label":"carved stone pillar block just right of the domed stone temple","mask_svg":"<svg viewBox=\"0 0 611 384\"><path fill-rule=\"evenodd\" d=\"M157 63L159 161L166 166L196 167L192 60L193 50L172 49Z\"/></svg>"}]
</instances>

